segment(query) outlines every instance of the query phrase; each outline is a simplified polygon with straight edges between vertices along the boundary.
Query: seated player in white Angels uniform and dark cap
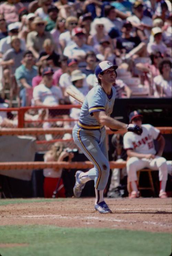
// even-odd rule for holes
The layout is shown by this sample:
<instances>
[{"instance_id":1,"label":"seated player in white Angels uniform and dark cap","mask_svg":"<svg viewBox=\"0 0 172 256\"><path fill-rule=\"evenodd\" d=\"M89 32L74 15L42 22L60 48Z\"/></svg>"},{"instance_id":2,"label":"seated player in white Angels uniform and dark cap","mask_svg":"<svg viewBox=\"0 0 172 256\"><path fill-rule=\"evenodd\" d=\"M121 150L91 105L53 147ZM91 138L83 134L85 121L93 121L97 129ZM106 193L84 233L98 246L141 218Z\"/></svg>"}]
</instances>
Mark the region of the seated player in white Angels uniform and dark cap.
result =
<instances>
[{"instance_id":1,"label":"seated player in white Angels uniform and dark cap","mask_svg":"<svg viewBox=\"0 0 172 256\"><path fill-rule=\"evenodd\" d=\"M160 198L166 198L166 181L168 177L168 166L166 159L162 157L165 146L164 137L160 131L150 124L142 125L143 116L138 111L133 111L129 115L131 124L142 128L141 135L127 132L123 137L123 145L127 150L129 160L127 161L127 174L132 190L130 198L139 197L137 186L137 171L145 167L152 170L159 170ZM156 152L153 140L158 140L159 150Z\"/></svg>"}]
</instances>

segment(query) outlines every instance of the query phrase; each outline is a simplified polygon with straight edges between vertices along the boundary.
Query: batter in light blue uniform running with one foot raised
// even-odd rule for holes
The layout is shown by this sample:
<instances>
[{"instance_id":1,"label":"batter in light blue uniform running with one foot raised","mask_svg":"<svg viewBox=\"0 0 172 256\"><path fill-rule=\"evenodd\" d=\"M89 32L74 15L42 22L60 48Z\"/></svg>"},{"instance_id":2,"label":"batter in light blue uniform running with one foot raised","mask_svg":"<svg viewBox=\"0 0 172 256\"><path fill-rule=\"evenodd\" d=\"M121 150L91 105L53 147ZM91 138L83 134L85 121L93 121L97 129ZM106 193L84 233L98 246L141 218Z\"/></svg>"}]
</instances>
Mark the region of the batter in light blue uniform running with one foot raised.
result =
<instances>
[{"instance_id":1,"label":"batter in light blue uniform running with one foot raised","mask_svg":"<svg viewBox=\"0 0 172 256\"><path fill-rule=\"evenodd\" d=\"M76 145L92 161L94 168L86 173L76 172L76 183L73 188L75 197L80 197L88 180L95 182L95 209L99 213L111 213L104 201L104 189L109 177L108 150L106 145L105 125L110 129L123 129L138 134L141 129L135 125L127 125L110 117L114 107L116 90L112 87L117 77L118 66L109 61L102 61L95 69L98 84L85 97L79 121L73 128Z\"/></svg>"}]
</instances>

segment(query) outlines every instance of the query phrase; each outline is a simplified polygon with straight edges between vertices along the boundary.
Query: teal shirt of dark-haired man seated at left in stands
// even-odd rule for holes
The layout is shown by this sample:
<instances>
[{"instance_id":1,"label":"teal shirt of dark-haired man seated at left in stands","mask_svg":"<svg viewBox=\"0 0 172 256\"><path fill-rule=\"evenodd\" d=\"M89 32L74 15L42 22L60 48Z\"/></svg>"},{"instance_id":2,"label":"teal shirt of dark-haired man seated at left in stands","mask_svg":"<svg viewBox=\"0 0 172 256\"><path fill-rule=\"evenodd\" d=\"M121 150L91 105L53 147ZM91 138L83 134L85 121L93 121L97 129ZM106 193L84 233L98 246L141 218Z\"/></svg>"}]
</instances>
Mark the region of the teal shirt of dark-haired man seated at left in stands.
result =
<instances>
[{"instance_id":1,"label":"teal shirt of dark-haired man seated at left in stands","mask_svg":"<svg viewBox=\"0 0 172 256\"><path fill-rule=\"evenodd\" d=\"M37 76L37 67L33 66L31 70L27 69L24 65L21 65L15 70L15 78L19 87L23 88L20 79L25 78L26 82L32 87L32 79Z\"/></svg>"}]
</instances>

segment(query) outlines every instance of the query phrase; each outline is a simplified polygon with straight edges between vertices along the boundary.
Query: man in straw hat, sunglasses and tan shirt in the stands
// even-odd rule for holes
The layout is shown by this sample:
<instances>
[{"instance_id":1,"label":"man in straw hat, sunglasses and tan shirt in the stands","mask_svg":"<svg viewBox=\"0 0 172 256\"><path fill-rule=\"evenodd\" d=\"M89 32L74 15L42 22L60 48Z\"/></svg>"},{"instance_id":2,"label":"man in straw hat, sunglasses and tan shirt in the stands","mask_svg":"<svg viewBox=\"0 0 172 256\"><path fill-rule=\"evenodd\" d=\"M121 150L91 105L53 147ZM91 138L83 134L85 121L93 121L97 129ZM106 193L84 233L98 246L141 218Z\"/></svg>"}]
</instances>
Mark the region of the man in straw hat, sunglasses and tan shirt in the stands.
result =
<instances>
[{"instance_id":1,"label":"man in straw hat, sunglasses and tan shirt in the stands","mask_svg":"<svg viewBox=\"0 0 172 256\"><path fill-rule=\"evenodd\" d=\"M53 38L49 32L45 31L46 21L36 17L32 24L34 31L27 36L27 47L33 52L34 57L38 59L39 53L43 50L45 39L49 38L53 41Z\"/></svg>"}]
</instances>

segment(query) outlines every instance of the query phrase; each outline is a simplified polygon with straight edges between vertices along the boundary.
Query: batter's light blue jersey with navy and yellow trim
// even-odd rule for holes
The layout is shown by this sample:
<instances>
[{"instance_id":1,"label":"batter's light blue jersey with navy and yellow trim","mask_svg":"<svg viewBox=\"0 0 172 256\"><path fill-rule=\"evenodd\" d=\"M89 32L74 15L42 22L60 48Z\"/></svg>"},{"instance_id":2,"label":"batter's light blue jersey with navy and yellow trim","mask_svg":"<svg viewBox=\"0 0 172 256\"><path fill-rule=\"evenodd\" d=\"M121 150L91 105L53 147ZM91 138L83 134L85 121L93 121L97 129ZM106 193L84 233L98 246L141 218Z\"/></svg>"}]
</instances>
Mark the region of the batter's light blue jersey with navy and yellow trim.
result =
<instances>
[{"instance_id":1,"label":"batter's light blue jersey with navy and yellow trim","mask_svg":"<svg viewBox=\"0 0 172 256\"><path fill-rule=\"evenodd\" d=\"M116 89L114 87L112 87L111 97L106 94L100 85L92 88L86 95L82 105L78 127L86 130L100 129L102 126L94 117L93 112L105 111L106 115L110 116L114 108L115 96Z\"/></svg>"}]
</instances>

